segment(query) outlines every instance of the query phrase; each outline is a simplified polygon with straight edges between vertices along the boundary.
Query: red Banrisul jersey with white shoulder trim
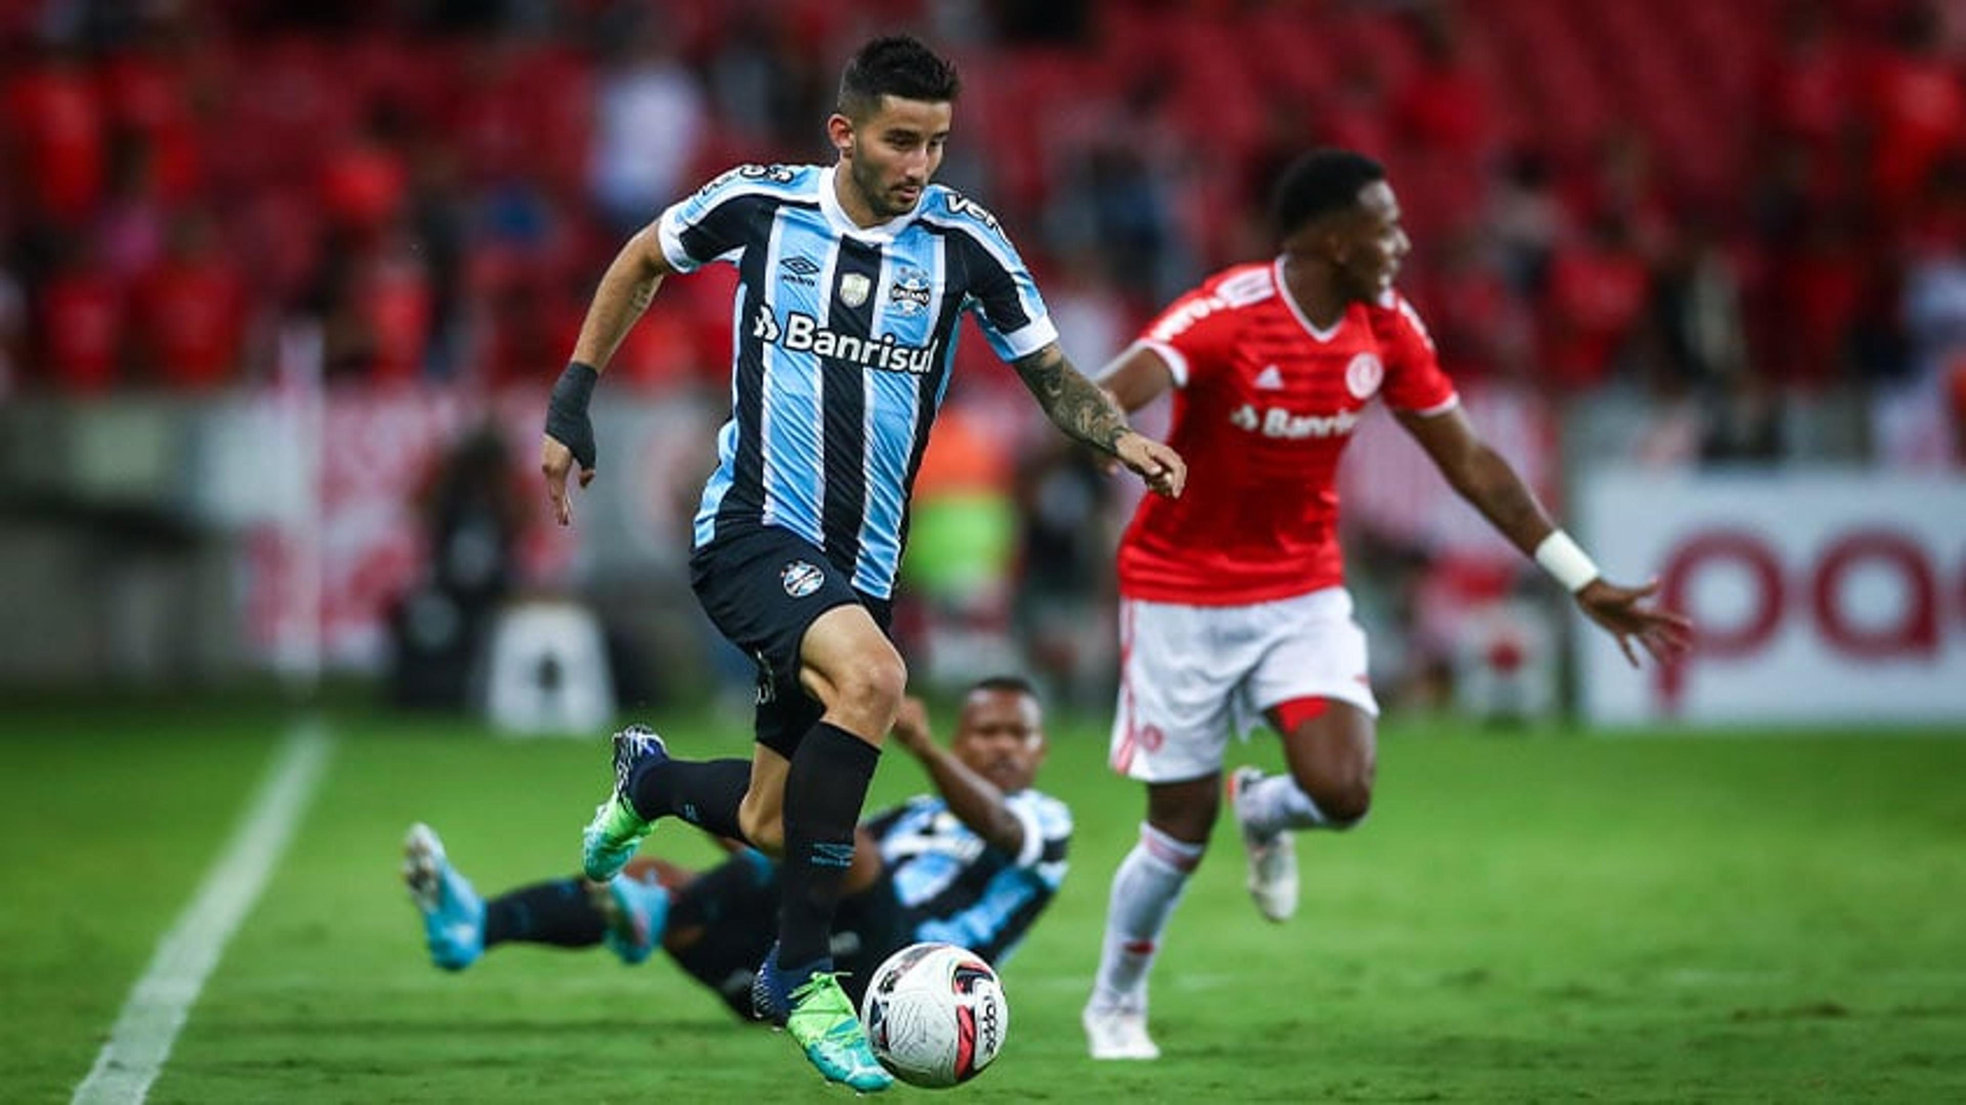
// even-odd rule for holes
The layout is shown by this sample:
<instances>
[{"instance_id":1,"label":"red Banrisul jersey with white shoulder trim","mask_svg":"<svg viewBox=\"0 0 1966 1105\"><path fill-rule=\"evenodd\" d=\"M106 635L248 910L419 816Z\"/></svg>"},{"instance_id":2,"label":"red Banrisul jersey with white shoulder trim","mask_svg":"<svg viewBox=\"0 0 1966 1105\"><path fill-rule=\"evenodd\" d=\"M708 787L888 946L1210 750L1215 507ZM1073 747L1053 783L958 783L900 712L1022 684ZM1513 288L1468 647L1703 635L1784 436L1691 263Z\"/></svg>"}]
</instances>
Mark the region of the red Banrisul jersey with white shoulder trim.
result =
<instances>
[{"instance_id":1,"label":"red Banrisul jersey with white shoulder trim","mask_svg":"<svg viewBox=\"0 0 1966 1105\"><path fill-rule=\"evenodd\" d=\"M1140 499L1119 549L1127 598L1237 606L1343 582L1337 468L1364 405L1457 401L1396 291L1317 330L1284 291L1280 260L1217 273L1140 342L1174 370L1168 444L1187 460L1187 492Z\"/></svg>"}]
</instances>

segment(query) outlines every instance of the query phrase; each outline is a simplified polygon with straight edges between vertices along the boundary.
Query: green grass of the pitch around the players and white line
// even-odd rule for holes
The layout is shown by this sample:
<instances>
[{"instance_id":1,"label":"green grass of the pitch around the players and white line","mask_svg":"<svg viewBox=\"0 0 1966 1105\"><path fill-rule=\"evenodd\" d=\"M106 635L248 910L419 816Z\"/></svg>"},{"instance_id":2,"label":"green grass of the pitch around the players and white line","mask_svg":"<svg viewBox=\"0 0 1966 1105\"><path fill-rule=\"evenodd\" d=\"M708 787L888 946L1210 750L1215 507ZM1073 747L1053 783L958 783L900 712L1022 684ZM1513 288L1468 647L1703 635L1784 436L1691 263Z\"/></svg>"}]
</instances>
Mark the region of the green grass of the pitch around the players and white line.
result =
<instances>
[{"instance_id":1,"label":"green grass of the pitch around the players and white line","mask_svg":"<svg viewBox=\"0 0 1966 1105\"><path fill-rule=\"evenodd\" d=\"M29 704L0 737L0 1097L67 1101L287 720ZM946 733L948 712L938 712ZM657 720L661 722L661 720ZM413 820L484 893L564 875L602 741L332 710L313 808L151 1101L841 1101L790 1042L666 961L423 954ZM745 755L706 722L684 755ZM1303 908L1262 922L1233 826L1154 975L1158 1064L1093 1064L1077 1011L1138 786L1054 720L1066 891L1005 967L1011 1038L973 1101L1944 1101L1966 1097L1966 739L1490 737L1394 722L1351 836L1300 838ZM1258 737L1233 755L1274 767ZM891 755L871 804L926 786ZM710 859L694 830L653 847ZM898 1093L920 1093L900 1087Z\"/></svg>"}]
</instances>

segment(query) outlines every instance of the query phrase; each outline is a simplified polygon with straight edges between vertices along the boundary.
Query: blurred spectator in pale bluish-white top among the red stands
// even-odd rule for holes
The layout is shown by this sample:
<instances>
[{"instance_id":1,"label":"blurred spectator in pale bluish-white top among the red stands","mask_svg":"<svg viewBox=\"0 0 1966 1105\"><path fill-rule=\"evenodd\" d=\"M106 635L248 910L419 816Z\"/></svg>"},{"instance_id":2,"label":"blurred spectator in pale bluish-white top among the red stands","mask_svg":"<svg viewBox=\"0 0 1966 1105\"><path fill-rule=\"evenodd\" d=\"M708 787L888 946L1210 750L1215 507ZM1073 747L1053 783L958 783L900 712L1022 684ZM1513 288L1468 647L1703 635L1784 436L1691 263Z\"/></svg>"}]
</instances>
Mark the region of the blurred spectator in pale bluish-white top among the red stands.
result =
<instances>
[{"instance_id":1,"label":"blurred spectator in pale bluish-white top among the red stands","mask_svg":"<svg viewBox=\"0 0 1966 1105\"><path fill-rule=\"evenodd\" d=\"M694 179L692 157L706 132L704 92L663 28L629 31L596 88L590 187L609 224L643 228Z\"/></svg>"}]
</instances>

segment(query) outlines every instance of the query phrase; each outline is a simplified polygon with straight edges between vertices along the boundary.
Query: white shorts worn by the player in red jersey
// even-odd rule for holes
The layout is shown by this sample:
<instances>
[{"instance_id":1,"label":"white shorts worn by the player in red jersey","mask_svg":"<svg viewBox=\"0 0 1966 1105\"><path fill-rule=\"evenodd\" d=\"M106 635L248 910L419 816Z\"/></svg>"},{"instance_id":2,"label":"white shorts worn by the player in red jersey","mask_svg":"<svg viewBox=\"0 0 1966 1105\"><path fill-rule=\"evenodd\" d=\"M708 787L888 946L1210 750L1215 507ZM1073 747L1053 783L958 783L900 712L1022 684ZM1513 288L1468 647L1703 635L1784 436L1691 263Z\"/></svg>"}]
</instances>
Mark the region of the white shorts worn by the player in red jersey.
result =
<instances>
[{"instance_id":1,"label":"white shorts worn by the player in red jersey","mask_svg":"<svg viewBox=\"0 0 1966 1105\"><path fill-rule=\"evenodd\" d=\"M1176 606L1123 598L1119 710L1111 765L1142 783L1221 771L1229 735L1292 698L1337 698L1378 716L1364 629L1351 592L1246 606Z\"/></svg>"}]
</instances>

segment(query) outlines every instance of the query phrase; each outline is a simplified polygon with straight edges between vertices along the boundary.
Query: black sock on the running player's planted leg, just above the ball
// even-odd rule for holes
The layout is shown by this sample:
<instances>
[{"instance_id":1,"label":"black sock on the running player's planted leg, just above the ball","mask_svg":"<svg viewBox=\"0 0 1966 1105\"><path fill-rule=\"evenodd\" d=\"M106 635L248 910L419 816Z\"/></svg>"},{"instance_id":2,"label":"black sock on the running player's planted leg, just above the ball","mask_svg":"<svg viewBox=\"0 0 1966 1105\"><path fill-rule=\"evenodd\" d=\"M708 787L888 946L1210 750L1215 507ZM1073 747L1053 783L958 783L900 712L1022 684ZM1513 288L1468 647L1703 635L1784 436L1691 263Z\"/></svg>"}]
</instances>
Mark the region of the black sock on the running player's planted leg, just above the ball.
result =
<instances>
[{"instance_id":1,"label":"black sock on the running player's planted leg, just above the ball","mask_svg":"<svg viewBox=\"0 0 1966 1105\"><path fill-rule=\"evenodd\" d=\"M853 824L881 749L820 722L784 779L784 861L779 867L779 963L828 956L839 883L853 865Z\"/></svg>"}]
</instances>

